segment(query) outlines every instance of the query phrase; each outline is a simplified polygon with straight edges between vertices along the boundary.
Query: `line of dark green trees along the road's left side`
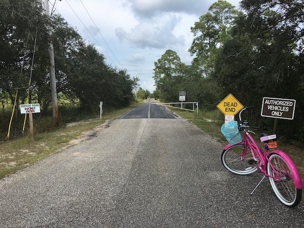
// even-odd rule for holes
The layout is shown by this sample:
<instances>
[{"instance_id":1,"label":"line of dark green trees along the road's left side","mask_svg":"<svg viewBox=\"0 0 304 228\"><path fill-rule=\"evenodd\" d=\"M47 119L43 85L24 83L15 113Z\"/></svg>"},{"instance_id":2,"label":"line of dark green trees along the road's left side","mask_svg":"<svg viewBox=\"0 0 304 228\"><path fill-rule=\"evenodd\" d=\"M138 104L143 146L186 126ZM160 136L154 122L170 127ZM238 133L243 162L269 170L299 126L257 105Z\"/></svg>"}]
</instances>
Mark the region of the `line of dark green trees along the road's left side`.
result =
<instances>
[{"instance_id":1,"label":"line of dark green trees along the road's left side","mask_svg":"<svg viewBox=\"0 0 304 228\"><path fill-rule=\"evenodd\" d=\"M0 36L3 104L7 100L14 103L17 94L16 108L19 103L37 102L43 113L52 105L50 42L54 46L57 93L69 103L96 108L100 101L108 107L128 106L134 101L138 79L107 64L94 45L86 44L60 15L52 14L49 19L41 0L1 0Z\"/></svg>"}]
</instances>

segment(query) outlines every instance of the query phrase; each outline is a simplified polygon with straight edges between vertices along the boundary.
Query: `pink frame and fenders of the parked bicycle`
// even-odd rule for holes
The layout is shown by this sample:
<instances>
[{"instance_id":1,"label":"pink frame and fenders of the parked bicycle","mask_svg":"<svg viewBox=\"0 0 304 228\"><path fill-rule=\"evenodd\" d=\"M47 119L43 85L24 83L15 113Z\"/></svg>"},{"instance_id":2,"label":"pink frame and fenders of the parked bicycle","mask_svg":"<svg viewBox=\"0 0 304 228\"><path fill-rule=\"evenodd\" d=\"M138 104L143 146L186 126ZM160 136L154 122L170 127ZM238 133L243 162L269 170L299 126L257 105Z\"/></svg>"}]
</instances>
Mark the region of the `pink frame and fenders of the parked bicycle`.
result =
<instances>
[{"instance_id":1,"label":"pink frame and fenders of the parked bicycle","mask_svg":"<svg viewBox=\"0 0 304 228\"><path fill-rule=\"evenodd\" d=\"M285 154L283 151L281 150L273 150L269 153L268 149L265 149L264 152L262 151L262 149L256 144L255 140L253 139L253 137L249 134L249 132L247 132L246 130L244 130L244 140L240 143L237 143L239 145L244 145L244 150L242 152L242 161L244 160L246 153L247 153L247 145L249 146L253 159L257 162L257 168L258 170L263 173L265 176L270 177L270 178L274 178L276 181L281 181L281 177L280 174L276 171L275 167L272 165L272 163L269 160L269 156L271 154L278 154L281 157L283 157L286 162L293 164L291 159L288 157L287 154ZM232 144L228 144L225 146L224 149L230 148L231 146L233 146ZM272 170L274 171L275 176L271 176L268 174L267 172L267 163L270 164ZM284 166L282 166L284 168ZM295 175L293 177L289 177L289 178L293 178L295 181L295 186L297 188L302 188L302 181L300 178L300 175L296 169L295 166L291 166L290 169L294 170ZM288 174L289 175L289 174Z\"/></svg>"}]
</instances>

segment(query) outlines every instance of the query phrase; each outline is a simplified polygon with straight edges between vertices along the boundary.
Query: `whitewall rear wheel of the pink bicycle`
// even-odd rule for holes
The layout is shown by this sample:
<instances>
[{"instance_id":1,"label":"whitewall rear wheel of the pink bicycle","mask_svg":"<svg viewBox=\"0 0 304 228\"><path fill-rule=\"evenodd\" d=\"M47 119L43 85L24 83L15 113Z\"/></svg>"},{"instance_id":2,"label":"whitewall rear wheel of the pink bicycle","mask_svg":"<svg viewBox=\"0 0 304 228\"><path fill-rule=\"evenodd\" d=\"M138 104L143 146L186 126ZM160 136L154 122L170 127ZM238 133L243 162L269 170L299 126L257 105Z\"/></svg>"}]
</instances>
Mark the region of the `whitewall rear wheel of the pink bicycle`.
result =
<instances>
[{"instance_id":1,"label":"whitewall rear wheel of the pink bicycle","mask_svg":"<svg viewBox=\"0 0 304 228\"><path fill-rule=\"evenodd\" d=\"M272 153L269 156L270 163L274 166L276 171L281 175L281 181L277 181L269 177L270 184L274 193L279 200L288 207L295 207L301 201L302 189L295 186L295 179L297 169L290 159L284 159L284 156ZM267 172L274 176L273 168L270 163L267 164Z\"/></svg>"}]
</instances>

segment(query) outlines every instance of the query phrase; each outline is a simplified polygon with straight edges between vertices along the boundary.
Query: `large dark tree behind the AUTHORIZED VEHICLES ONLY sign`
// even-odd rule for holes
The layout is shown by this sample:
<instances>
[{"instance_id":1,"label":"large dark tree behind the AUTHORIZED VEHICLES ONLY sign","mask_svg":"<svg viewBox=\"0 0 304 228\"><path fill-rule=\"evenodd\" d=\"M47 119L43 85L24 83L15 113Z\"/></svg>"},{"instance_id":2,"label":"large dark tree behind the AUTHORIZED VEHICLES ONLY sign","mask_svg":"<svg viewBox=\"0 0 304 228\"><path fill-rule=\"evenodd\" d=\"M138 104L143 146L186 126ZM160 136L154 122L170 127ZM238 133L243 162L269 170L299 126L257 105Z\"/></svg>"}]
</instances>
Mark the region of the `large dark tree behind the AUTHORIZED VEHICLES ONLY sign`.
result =
<instances>
[{"instance_id":1,"label":"large dark tree behind the AUTHORIZED VEHICLES ONLY sign","mask_svg":"<svg viewBox=\"0 0 304 228\"><path fill-rule=\"evenodd\" d=\"M217 55L212 78L241 103L257 105L257 120L262 97L296 99L295 121L282 121L278 132L300 138L295 125L304 119L303 2L243 0L241 7L247 15L237 18L232 39Z\"/></svg>"}]
</instances>

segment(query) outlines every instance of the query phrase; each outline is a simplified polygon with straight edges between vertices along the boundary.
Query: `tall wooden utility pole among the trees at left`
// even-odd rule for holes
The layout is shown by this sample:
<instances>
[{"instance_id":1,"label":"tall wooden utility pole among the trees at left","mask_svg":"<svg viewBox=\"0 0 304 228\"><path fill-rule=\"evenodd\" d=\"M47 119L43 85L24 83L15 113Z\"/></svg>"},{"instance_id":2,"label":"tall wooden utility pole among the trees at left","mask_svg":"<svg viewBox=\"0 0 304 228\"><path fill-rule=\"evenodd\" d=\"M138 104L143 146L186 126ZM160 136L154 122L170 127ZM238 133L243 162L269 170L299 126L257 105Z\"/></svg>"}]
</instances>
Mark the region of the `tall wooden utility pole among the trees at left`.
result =
<instances>
[{"instance_id":1,"label":"tall wooden utility pole among the trees at left","mask_svg":"<svg viewBox=\"0 0 304 228\"><path fill-rule=\"evenodd\" d=\"M45 0L45 8L46 14L50 18L50 10L49 10L49 1ZM52 36L52 28L48 25L50 37ZM58 120L58 104L57 104L57 89L56 89L56 77L55 77L55 60L54 60L54 47L52 41L50 41L49 47L49 55L50 55L50 84L51 84L51 93L52 93L52 101L53 101L53 118L57 126L59 127L59 120Z\"/></svg>"}]
</instances>

